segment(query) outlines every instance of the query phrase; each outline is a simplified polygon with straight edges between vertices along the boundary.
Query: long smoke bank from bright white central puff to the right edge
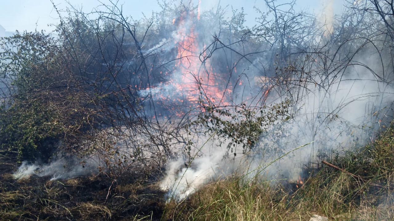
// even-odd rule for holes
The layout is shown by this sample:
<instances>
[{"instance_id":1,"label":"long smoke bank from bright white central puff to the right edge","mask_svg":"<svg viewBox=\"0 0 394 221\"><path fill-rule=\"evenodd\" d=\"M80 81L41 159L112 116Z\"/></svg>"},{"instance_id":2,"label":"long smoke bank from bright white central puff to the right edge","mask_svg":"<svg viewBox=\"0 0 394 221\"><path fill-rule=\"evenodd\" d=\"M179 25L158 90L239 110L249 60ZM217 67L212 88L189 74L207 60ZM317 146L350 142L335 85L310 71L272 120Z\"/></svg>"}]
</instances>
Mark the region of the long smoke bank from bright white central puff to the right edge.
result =
<instances>
[{"instance_id":1,"label":"long smoke bank from bright white central puff to the right edge","mask_svg":"<svg viewBox=\"0 0 394 221\"><path fill-rule=\"evenodd\" d=\"M375 59L372 57L364 64L379 70L373 62ZM168 191L170 199L182 200L219 177L246 173L252 178L262 172L261 168L264 168L268 179L294 181L298 179L303 165L314 162L319 155L345 151L370 142L374 132L383 129L381 122L387 123L393 118L392 112L385 107L392 106L394 88L377 81L367 69L349 69L351 73L342 79L327 83L325 79L316 77L313 79L316 83L301 88L304 95L294 106L294 118L280 128L270 128L262 134L260 143L248 156L239 154L237 160L226 158L227 143L212 141L210 148L214 151L204 149L190 166L185 166L182 158L170 162L160 187ZM298 89L296 87L289 92L295 96ZM275 94L270 96L272 103L281 100ZM313 143L293 151L310 142ZM281 158L288 152L291 153ZM278 158L281 159L276 160ZM263 166L273 161L269 167Z\"/></svg>"}]
</instances>

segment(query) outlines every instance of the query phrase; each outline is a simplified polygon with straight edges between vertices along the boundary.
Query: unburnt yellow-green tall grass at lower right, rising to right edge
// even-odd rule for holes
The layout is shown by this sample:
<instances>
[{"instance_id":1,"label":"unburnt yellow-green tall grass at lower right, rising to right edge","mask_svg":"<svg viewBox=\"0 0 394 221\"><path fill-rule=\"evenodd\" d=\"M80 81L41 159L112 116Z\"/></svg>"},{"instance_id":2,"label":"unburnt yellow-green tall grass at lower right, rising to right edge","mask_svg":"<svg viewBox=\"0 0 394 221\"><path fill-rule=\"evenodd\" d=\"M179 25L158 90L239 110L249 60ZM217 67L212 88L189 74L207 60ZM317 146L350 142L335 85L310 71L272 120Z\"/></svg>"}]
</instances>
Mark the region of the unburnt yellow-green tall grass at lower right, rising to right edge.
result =
<instances>
[{"instance_id":1,"label":"unburnt yellow-green tall grass at lower right, rising to right edge","mask_svg":"<svg viewBox=\"0 0 394 221\"><path fill-rule=\"evenodd\" d=\"M334 168L318 165L298 188L286 181L248 180L234 174L211 183L182 202L166 205L162 220L394 220L394 129L371 144L327 159L367 182ZM383 188L370 185L382 185Z\"/></svg>"}]
</instances>

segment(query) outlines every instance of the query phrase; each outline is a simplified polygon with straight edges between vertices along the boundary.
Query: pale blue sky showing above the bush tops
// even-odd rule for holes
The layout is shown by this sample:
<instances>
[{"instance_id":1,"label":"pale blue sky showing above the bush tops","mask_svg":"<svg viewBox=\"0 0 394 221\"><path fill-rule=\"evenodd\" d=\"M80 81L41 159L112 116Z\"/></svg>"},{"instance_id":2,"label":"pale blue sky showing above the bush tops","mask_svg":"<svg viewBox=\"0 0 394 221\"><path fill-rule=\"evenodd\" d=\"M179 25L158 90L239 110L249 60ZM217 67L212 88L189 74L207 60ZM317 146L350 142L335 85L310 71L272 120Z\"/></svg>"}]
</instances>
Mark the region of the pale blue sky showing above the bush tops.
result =
<instances>
[{"instance_id":1,"label":"pale blue sky showing above the bush tops","mask_svg":"<svg viewBox=\"0 0 394 221\"><path fill-rule=\"evenodd\" d=\"M109 0L52 0L58 9L65 9L69 2L77 8L83 9L84 12L90 12L94 7L102 3L108 3ZM159 0L162 1L162 0ZM177 0L180 1L180 0ZM184 0L183 2L188 2ZM197 4L199 0L191 0ZM210 9L221 6L230 5L235 9L244 8L247 13L247 24L253 24L255 18L254 6L266 11L263 0L200 0L201 9ZM335 2L336 11L339 10L343 0L298 0L297 9L307 9L310 12L319 13L322 10L322 4L325 2ZM160 11L158 0L119 0L119 4L123 4L123 12L125 15L131 15L135 19L139 19L145 15L149 16L152 11ZM288 0L279 0L279 2L288 2ZM54 28L48 24L58 24L59 19L56 11L53 9L51 0L0 0L0 25L6 31L34 31L44 29L51 31Z\"/></svg>"}]
</instances>

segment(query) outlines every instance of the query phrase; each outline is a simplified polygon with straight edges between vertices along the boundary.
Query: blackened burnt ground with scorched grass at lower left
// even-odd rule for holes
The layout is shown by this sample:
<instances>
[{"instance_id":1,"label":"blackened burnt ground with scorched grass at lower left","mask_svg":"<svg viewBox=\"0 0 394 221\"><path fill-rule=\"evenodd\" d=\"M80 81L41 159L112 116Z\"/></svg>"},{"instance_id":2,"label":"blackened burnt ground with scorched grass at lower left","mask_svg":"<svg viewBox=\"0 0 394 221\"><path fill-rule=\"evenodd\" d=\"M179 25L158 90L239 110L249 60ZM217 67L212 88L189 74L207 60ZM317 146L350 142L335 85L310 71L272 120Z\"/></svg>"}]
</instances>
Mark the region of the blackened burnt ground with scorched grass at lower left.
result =
<instances>
[{"instance_id":1,"label":"blackened burnt ground with scorched grass at lower left","mask_svg":"<svg viewBox=\"0 0 394 221\"><path fill-rule=\"evenodd\" d=\"M130 170L117 180L105 174L15 180L17 164L0 167L2 220L160 220L164 212L164 192L154 184L160 171Z\"/></svg>"}]
</instances>

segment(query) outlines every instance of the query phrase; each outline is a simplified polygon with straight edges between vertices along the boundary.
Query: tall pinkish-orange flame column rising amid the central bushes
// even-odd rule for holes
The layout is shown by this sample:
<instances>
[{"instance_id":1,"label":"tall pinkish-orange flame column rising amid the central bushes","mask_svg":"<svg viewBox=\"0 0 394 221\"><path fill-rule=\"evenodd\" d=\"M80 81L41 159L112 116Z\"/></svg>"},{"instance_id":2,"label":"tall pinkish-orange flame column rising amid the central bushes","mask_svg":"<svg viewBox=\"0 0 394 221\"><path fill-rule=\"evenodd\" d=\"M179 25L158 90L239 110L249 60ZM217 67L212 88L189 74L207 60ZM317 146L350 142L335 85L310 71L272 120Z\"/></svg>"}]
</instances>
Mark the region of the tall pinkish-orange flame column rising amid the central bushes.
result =
<instances>
[{"instance_id":1,"label":"tall pinkish-orange flame column rising amid the central bushes","mask_svg":"<svg viewBox=\"0 0 394 221\"><path fill-rule=\"evenodd\" d=\"M195 31L194 17L193 12L184 11L175 22L178 27L175 39L177 46L175 66L176 71L180 72L180 81L173 82L173 84L190 103L199 101L200 92L203 92L203 99L210 102L222 102L230 90L221 90L221 84L210 62L200 60L200 52L204 51L204 45L200 45L199 36ZM199 20L199 15L197 15L197 20Z\"/></svg>"}]
</instances>

